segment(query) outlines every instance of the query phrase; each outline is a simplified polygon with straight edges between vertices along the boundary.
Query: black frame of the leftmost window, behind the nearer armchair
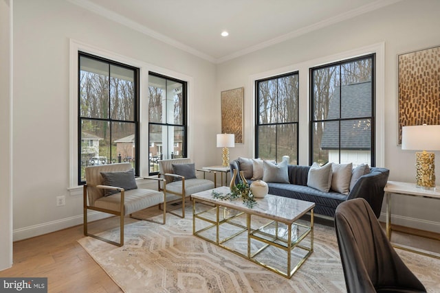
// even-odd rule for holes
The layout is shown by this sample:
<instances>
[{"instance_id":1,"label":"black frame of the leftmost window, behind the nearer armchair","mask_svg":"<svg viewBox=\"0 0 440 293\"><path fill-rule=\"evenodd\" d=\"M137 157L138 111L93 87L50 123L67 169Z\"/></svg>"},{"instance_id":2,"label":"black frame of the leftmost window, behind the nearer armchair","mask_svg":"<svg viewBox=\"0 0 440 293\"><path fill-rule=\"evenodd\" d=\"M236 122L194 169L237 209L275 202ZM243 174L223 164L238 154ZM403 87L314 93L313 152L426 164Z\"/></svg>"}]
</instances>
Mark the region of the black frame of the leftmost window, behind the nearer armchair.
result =
<instances>
[{"instance_id":1,"label":"black frame of the leftmost window, behind the nearer armchair","mask_svg":"<svg viewBox=\"0 0 440 293\"><path fill-rule=\"evenodd\" d=\"M107 117L107 119L104 118L94 118L94 117L81 117L80 116L80 72L81 72L81 57L90 58L93 60L97 60L100 62L107 62L110 68L110 65L115 65L118 67L124 67L125 69L133 70L135 73L134 80L133 80L133 106L134 106L134 120L133 121L126 121L126 120L117 120L112 119L111 116ZM82 158L81 158L81 121L83 119L91 120L91 121L107 121L109 122L109 125L111 126L111 122L124 122L124 123L133 123L135 126L135 165L134 165L134 172L135 176L140 176L140 69L138 67L133 67L131 65L126 65L122 62L114 61L108 58L103 58L100 56L96 56L93 54L89 54L83 51L78 51L78 185L84 185L85 181L81 180L81 168L83 167L82 164ZM111 96L109 95L109 99L111 99ZM109 102L109 108L111 103ZM110 110L109 110L110 113ZM110 134L110 141L111 141L111 134ZM110 148L111 153L111 148ZM111 159L112 156L110 156ZM120 163L119 161L115 161L115 159L111 160L107 163Z\"/></svg>"}]
</instances>

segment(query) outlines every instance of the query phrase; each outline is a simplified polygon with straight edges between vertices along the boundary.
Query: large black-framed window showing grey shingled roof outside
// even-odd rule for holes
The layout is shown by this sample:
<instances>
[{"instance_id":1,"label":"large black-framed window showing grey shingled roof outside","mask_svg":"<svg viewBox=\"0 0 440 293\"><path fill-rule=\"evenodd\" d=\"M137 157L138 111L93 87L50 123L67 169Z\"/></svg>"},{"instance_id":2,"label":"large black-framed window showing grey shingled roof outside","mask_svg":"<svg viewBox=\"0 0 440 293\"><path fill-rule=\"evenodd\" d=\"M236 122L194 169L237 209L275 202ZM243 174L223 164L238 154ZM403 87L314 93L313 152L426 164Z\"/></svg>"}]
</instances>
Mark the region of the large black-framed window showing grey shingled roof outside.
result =
<instances>
[{"instance_id":1,"label":"large black-framed window showing grey shingled roof outside","mask_svg":"<svg viewBox=\"0 0 440 293\"><path fill-rule=\"evenodd\" d=\"M310 162L375 165L375 55L311 74Z\"/></svg>"}]
</instances>

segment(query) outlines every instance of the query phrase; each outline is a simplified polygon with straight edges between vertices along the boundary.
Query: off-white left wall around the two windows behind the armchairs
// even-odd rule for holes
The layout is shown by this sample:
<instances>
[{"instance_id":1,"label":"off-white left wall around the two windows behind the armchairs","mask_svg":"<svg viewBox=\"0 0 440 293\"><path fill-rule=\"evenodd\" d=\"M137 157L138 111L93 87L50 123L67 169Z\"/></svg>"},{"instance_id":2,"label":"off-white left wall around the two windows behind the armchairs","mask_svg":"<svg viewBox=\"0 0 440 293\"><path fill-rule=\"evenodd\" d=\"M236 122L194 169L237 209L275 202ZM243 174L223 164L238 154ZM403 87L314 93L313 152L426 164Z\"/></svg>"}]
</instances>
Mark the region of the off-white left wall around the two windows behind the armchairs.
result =
<instances>
[{"instance_id":1,"label":"off-white left wall around the two windows behind the armchairs","mask_svg":"<svg viewBox=\"0 0 440 293\"><path fill-rule=\"evenodd\" d=\"M158 73L188 76L192 80L189 154L197 154L194 156L197 167L212 163L211 152L216 151L212 129L218 124L220 114L212 115L206 109L212 108L211 101L217 98L212 91L215 65L68 1L14 1L13 26L14 240L82 223L82 194L67 190L72 187L69 183L72 40L97 51L139 60ZM141 128L145 127L144 119ZM56 207L56 196L66 197L64 207Z\"/></svg>"}]
</instances>

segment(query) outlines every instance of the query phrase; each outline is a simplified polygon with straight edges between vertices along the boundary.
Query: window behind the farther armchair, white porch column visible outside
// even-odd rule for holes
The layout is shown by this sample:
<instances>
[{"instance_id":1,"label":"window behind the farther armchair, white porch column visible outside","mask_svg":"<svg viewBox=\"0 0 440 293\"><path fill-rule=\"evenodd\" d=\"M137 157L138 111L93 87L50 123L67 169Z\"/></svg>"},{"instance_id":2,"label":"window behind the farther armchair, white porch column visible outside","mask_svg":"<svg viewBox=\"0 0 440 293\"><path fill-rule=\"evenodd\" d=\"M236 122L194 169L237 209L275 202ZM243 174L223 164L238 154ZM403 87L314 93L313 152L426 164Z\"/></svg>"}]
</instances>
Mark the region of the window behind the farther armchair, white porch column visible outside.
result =
<instances>
[{"instance_id":1,"label":"window behind the farther armchair, white porch column visible outside","mask_svg":"<svg viewBox=\"0 0 440 293\"><path fill-rule=\"evenodd\" d=\"M150 174L157 161L186 157L186 82L157 73L148 75Z\"/></svg>"}]
</instances>

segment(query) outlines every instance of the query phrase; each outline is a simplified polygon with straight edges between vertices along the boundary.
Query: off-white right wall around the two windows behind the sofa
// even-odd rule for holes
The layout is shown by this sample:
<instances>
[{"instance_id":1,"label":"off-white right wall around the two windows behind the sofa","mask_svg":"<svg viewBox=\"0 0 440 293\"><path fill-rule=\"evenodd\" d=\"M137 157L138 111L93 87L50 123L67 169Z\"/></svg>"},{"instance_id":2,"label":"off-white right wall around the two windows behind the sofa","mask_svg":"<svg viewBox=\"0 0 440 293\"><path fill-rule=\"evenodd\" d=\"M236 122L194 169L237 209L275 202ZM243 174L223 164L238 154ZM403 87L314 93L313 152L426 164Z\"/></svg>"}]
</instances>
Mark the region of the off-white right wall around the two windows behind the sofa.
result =
<instances>
[{"instance_id":1,"label":"off-white right wall around the two windows behind the sofa","mask_svg":"<svg viewBox=\"0 0 440 293\"><path fill-rule=\"evenodd\" d=\"M440 1L401 1L218 65L217 96L221 91L245 86L245 143L230 149L230 157L252 156L254 152L252 80L266 74L275 75L301 68L300 107L303 110L300 110L300 121L303 124L299 128L298 161L301 165L307 164L308 71L303 65L384 43L384 80L380 81L384 83L384 108L379 109L384 111L384 120L378 126L384 129L383 167L390 169L390 180L414 183L415 154L402 151L397 145L397 55L440 45L439 11ZM436 172L440 174L440 152L436 154ZM439 179L437 185L440 185ZM439 200L395 198L393 223L440 232L439 209ZM382 208L382 211L385 209Z\"/></svg>"}]
</instances>

